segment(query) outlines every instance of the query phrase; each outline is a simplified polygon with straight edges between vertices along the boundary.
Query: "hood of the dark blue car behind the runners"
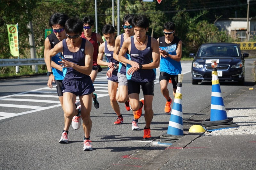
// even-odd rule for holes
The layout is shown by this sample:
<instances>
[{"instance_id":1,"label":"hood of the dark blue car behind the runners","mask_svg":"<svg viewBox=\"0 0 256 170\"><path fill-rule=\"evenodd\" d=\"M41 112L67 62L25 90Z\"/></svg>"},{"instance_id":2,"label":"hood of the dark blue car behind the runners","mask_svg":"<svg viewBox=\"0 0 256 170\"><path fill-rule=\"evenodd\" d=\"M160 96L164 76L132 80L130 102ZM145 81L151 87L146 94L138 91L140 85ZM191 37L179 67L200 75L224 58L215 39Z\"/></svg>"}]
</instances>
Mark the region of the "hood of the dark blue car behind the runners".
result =
<instances>
[{"instance_id":1,"label":"hood of the dark blue car behind the runners","mask_svg":"<svg viewBox=\"0 0 256 170\"><path fill-rule=\"evenodd\" d=\"M205 63L212 63L213 60L217 60L220 64L236 64L241 61L240 57L219 57L219 56L212 56L212 57L196 57L194 61L200 64Z\"/></svg>"}]
</instances>

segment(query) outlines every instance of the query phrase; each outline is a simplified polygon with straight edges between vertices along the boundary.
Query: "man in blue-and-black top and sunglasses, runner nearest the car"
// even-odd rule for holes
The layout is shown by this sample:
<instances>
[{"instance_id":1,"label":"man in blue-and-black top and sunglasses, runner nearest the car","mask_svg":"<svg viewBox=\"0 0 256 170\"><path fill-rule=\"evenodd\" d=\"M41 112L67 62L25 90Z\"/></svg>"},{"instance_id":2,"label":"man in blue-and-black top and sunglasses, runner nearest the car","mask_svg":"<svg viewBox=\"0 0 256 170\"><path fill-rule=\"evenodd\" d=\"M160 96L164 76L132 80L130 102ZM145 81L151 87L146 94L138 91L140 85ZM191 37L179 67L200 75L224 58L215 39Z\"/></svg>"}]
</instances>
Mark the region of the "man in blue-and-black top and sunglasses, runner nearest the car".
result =
<instances>
[{"instance_id":1,"label":"man in blue-and-black top and sunglasses, runner nearest the car","mask_svg":"<svg viewBox=\"0 0 256 170\"><path fill-rule=\"evenodd\" d=\"M171 112L172 98L169 95L167 88L168 81L172 80L173 96L175 96L178 83L178 74L181 74L181 55L182 55L182 41L174 36L175 24L173 22L167 22L164 24L164 36L159 37L159 51L161 55L160 59L160 76L159 82L161 86L161 92L166 99L164 112Z\"/></svg>"}]
</instances>

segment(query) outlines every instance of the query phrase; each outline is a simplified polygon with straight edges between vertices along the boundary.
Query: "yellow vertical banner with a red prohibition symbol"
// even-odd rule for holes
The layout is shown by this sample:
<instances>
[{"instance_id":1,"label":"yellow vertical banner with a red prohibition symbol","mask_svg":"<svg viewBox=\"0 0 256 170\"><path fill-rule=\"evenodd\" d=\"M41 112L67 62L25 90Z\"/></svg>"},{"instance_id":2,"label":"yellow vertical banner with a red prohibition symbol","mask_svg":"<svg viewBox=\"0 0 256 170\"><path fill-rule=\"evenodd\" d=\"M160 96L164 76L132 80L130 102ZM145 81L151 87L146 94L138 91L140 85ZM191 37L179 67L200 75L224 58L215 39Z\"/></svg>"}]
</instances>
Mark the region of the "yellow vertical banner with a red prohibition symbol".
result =
<instances>
[{"instance_id":1,"label":"yellow vertical banner with a red prohibition symbol","mask_svg":"<svg viewBox=\"0 0 256 170\"><path fill-rule=\"evenodd\" d=\"M18 23L6 25L11 54L19 58Z\"/></svg>"}]
</instances>

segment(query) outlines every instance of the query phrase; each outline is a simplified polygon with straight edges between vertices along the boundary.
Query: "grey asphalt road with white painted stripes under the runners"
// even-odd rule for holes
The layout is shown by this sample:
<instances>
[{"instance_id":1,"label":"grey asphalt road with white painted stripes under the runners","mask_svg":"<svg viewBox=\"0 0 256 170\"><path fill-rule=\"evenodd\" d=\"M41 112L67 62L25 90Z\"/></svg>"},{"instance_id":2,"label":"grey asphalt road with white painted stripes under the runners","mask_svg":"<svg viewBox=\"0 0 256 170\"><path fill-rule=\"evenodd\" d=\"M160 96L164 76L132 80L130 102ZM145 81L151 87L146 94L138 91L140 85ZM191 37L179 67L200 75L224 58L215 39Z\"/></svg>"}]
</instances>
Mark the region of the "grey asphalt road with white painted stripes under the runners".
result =
<instances>
[{"instance_id":1,"label":"grey asphalt road with white painted stripes under the runners","mask_svg":"<svg viewBox=\"0 0 256 170\"><path fill-rule=\"evenodd\" d=\"M252 61L247 59L246 63ZM188 72L191 64L182 64L184 73ZM159 136L167 131L170 114L164 113L165 99L158 79L153 100L152 140L143 140L143 115L139 120L141 130L132 131L132 112L126 111L124 104L119 105L124 124L114 125L116 114L107 95L105 73L106 70L102 71L95 81L96 93L100 94L100 108L92 107L91 111L93 151L83 151L82 128L74 130L70 127L69 144L58 143L64 127L63 111L56 91L47 88L47 76L1 80L0 169L138 169L163 151L167 146L157 142ZM245 78L245 81L245 86L237 86L234 82L221 83L224 102L234 100L252 85L248 79ZM211 105L211 88L211 82L192 85L191 73L184 74L184 132L209 117L207 110ZM138 153L140 158L131 157ZM131 163L122 163L124 159L131 160Z\"/></svg>"}]
</instances>

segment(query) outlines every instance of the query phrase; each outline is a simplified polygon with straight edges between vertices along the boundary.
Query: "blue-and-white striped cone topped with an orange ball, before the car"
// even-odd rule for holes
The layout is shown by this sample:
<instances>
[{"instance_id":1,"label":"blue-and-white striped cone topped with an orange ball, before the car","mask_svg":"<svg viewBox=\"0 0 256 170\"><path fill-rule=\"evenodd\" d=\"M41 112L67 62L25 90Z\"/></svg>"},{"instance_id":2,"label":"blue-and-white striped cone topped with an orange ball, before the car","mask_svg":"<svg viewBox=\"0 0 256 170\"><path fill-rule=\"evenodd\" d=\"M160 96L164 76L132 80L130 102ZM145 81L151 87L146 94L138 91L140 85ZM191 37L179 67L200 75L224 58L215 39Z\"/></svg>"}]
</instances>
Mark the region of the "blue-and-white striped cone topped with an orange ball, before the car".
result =
<instances>
[{"instance_id":1,"label":"blue-and-white striped cone topped with an orange ball, before the car","mask_svg":"<svg viewBox=\"0 0 256 170\"><path fill-rule=\"evenodd\" d=\"M220 81L216 68L212 69L212 99L211 99L211 118L210 121L220 121L228 119L222 93Z\"/></svg>"}]
</instances>

